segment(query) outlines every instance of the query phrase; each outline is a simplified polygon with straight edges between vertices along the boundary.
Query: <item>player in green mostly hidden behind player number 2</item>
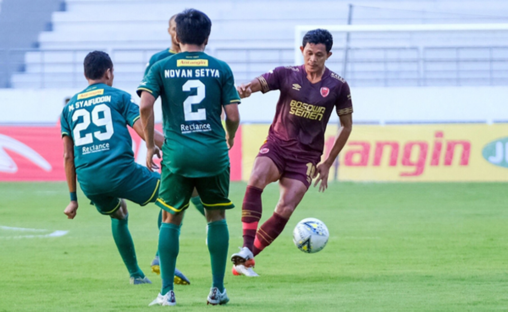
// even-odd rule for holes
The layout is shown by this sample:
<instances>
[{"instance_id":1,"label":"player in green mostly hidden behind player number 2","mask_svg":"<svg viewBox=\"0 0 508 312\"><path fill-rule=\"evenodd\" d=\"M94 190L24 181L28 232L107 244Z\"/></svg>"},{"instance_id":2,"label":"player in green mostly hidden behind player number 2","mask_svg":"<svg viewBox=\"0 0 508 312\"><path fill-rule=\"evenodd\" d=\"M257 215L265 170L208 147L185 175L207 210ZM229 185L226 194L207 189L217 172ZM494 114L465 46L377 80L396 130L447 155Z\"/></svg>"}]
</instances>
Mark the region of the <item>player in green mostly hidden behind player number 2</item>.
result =
<instances>
[{"instance_id":1,"label":"player in green mostly hidden behind player number 2","mask_svg":"<svg viewBox=\"0 0 508 312\"><path fill-rule=\"evenodd\" d=\"M178 41L176 41L176 22L175 22L176 14L171 16L169 19L169 27L168 27L168 33L171 36L171 47L168 49L164 49L160 52L157 52L150 57L150 60L146 64L145 74L148 74L148 71L150 71L150 68L152 67L155 62L160 61L162 59L165 59L166 57L172 56L176 53L180 52L180 44ZM199 198L198 192L194 190L193 196L190 197L190 201L194 204L196 209L204 216L205 215L205 208L203 207L203 204L201 203L201 199ZM160 229L162 224L162 210L160 211L157 219L157 226ZM155 254L155 257L153 258L152 262L150 263L150 267L152 269L152 272L156 274L161 273L160 268L160 260L158 256L158 251ZM188 281L186 278L182 280L182 282ZM185 283L182 283L186 285Z\"/></svg>"}]
</instances>

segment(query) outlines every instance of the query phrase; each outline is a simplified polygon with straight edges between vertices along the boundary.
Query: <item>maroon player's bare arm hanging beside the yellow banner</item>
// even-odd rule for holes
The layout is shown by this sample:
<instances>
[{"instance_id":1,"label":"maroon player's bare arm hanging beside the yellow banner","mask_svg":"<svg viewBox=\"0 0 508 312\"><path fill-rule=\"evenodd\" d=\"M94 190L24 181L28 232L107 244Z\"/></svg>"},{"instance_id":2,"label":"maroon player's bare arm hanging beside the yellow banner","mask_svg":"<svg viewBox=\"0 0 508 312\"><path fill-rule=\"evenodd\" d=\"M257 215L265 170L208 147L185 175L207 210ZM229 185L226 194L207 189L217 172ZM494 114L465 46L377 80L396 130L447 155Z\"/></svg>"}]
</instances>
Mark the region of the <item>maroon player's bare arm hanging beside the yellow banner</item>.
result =
<instances>
[{"instance_id":1,"label":"maroon player's bare arm hanging beside the yellow banner","mask_svg":"<svg viewBox=\"0 0 508 312\"><path fill-rule=\"evenodd\" d=\"M339 155L342 148L345 146L347 139L349 138L351 131L353 130L353 114L347 114L339 116L340 129L333 144L332 150L328 154L328 157L317 165L314 178L317 177L314 182L314 187L321 182L319 191L324 192L328 188L328 174L330 167L332 166L335 158Z\"/></svg>"}]
</instances>

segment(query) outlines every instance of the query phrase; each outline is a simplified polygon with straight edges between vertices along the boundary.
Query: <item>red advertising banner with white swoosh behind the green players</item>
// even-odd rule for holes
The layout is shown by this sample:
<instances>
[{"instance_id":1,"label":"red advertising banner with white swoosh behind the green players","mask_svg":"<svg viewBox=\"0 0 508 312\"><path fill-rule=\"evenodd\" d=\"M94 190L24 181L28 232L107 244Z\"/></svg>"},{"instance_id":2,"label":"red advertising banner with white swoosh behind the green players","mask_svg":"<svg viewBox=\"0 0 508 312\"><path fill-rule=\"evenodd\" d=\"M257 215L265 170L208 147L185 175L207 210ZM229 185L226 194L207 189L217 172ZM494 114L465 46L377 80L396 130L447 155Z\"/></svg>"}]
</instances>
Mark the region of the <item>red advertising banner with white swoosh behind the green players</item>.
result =
<instances>
[{"instance_id":1,"label":"red advertising banner with white swoosh behind the green players","mask_svg":"<svg viewBox=\"0 0 508 312\"><path fill-rule=\"evenodd\" d=\"M161 130L161 126L156 128ZM146 147L130 128L136 162L145 164ZM230 151L231 180L242 177L241 128ZM0 126L0 181L65 181L59 126Z\"/></svg>"}]
</instances>

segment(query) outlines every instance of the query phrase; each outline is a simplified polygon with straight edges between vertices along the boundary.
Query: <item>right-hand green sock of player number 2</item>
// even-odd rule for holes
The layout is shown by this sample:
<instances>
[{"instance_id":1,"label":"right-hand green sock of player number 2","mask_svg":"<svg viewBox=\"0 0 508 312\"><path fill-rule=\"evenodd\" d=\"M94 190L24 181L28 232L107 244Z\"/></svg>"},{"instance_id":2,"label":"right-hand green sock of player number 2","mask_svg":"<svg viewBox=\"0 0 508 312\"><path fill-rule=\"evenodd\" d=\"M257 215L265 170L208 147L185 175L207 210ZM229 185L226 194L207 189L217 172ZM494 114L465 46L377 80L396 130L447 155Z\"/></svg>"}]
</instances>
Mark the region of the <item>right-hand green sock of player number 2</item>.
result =
<instances>
[{"instance_id":1,"label":"right-hand green sock of player number 2","mask_svg":"<svg viewBox=\"0 0 508 312\"><path fill-rule=\"evenodd\" d=\"M212 287L217 287L220 292L223 292L229 248L229 231L226 220L208 223L207 239L212 264Z\"/></svg>"}]
</instances>

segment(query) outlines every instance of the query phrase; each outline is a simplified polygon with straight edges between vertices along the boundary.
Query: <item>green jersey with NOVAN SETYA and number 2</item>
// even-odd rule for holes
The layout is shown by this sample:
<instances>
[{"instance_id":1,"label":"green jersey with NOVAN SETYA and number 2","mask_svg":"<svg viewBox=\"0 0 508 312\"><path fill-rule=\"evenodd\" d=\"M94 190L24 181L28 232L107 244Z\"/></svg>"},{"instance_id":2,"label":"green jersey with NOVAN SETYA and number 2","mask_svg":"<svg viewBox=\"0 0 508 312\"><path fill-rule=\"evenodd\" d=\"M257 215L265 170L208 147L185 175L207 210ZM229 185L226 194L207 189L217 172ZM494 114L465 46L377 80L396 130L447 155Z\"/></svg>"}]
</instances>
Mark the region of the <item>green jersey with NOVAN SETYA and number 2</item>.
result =
<instances>
[{"instance_id":1,"label":"green jersey with NOVAN SETYA and number 2","mask_svg":"<svg viewBox=\"0 0 508 312\"><path fill-rule=\"evenodd\" d=\"M163 161L171 172L211 177L229 166L220 114L240 97L228 64L204 52L181 52L153 64L138 95L143 91L161 96Z\"/></svg>"}]
</instances>

